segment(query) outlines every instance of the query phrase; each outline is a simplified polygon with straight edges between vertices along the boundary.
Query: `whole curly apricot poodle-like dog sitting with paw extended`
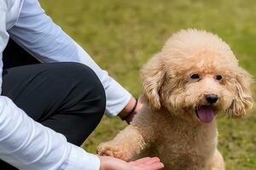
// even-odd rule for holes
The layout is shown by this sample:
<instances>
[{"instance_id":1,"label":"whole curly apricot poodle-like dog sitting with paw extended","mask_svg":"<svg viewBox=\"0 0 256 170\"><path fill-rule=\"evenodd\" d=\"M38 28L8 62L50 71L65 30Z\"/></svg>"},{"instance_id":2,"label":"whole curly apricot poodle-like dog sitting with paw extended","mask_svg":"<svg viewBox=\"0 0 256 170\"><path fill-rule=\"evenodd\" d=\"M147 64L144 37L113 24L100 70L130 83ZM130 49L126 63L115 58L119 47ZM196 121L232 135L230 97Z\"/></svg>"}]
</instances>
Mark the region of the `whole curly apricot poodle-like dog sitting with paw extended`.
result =
<instances>
[{"instance_id":1,"label":"whole curly apricot poodle-like dog sitting with paw extended","mask_svg":"<svg viewBox=\"0 0 256 170\"><path fill-rule=\"evenodd\" d=\"M243 116L252 106L251 77L229 46L206 31L180 31L141 73L142 111L98 153L159 156L166 170L224 169L215 116Z\"/></svg>"}]
</instances>

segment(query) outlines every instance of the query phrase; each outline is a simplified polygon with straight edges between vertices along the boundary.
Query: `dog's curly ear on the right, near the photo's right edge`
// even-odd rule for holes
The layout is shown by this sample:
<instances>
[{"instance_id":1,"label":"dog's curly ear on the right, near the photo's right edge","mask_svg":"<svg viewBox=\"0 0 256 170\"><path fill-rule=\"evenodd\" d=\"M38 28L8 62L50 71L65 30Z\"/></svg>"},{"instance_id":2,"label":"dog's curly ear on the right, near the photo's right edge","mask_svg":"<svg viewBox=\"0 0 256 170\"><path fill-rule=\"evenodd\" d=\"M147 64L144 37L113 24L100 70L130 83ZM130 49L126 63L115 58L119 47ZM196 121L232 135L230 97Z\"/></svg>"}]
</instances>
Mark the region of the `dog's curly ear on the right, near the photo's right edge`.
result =
<instances>
[{"instance_id":1,"label":"dog's curly ear on the right, near the photo's right edge","mask_svg":"<svg viewBox=\"0 0 256 170\"><path fill-rule=\"evenodd\" d=\"M252 76L247 71L239 68L235 78L235 97L227 109L227 113L233 117L241 117L246 114L246 110L252 108L253 97L251 92Z\"/></svg>"}]
</instances>

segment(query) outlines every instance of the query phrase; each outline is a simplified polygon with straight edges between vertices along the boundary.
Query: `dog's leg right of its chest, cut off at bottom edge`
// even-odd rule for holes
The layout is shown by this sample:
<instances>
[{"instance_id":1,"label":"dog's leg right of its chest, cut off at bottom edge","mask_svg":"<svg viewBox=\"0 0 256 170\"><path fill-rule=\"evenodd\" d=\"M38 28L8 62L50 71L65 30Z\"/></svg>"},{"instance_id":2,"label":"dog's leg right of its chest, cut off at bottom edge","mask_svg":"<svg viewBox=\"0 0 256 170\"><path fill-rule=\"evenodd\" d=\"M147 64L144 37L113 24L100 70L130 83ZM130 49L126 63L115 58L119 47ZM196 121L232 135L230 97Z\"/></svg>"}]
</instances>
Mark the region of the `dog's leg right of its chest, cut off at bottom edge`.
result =
<instances>
[{"instance_id":1,"label":"dog's leg right of its chest, cut off at bottom edge","mask_svg":"<svg viewBox=\"0 0 256 170\"><path fill-rule=\"evenodd\" d=\"M224 170L224 159L218 149L215 150L214 155L212 157L212 163L210 166L210 170Z\"/></svg>"}]
</instances>

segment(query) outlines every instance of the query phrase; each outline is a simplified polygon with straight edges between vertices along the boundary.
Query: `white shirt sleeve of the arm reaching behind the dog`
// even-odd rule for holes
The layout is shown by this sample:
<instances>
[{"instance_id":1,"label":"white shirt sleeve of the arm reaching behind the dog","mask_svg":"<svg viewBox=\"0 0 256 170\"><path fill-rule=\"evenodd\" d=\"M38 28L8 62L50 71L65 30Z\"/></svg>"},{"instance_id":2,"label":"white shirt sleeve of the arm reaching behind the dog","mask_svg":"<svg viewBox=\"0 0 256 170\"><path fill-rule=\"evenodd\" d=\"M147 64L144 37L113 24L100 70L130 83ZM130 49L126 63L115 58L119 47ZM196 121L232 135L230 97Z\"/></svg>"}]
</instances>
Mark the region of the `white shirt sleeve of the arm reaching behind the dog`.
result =
<instances>
[{"instance_id":1,"label":"white shirt sleeve of the arm reaching behind the dog","mask_svg":"<svg viewBox=\"0 0 256 170\"><path fill-rule=\"evenodd\" d=\"M105 89L108 116L116 116L131 99L131 94L125 88L109 77L107 71L102 71L77 42L55 25L37 0L24 2L20 17L9 34L15 42L42 62L72 61L90 66Z\"/></svg>"}]
</instances>

